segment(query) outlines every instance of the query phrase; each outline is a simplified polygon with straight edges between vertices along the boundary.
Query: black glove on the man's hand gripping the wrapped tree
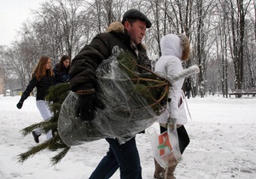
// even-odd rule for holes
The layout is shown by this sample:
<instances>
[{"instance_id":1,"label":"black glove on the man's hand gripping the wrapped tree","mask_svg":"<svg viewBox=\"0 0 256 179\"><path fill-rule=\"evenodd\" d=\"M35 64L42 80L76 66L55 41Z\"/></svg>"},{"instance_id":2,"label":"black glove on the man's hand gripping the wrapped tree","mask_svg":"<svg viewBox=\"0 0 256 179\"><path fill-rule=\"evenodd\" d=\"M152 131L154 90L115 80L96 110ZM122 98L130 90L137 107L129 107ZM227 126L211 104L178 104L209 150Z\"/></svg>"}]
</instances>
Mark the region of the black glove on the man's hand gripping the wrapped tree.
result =
<instances>
[{"instance_id":1,"label":"black glove on the man's hand gripping the wrapped tree","mask_svg":"<svg viewBox=\"0 0 256 179\"><path fill-rule=\"evenodd\" d=\"M100 101L96 94L79 95L77 117L81 120L93 120L95 118L96 107L104 109L102 101Z\"/></svg>"}]
</instances>

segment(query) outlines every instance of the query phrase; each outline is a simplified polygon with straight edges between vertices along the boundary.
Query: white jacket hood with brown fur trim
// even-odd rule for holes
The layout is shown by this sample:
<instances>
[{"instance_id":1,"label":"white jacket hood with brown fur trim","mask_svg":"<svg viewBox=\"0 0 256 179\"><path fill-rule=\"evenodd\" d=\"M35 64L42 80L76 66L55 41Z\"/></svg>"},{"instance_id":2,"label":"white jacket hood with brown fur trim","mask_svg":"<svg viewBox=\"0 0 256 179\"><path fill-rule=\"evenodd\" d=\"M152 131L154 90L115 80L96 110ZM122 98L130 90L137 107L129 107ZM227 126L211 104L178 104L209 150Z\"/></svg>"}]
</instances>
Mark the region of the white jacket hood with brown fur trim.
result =
<instances>
[{"instance_id":1,"label":"white jacket hood with brown fur trim","mask_svg":"<svg viewBox=\"0 0 256 179\"><path fill-rule=\"evenodd\" d=\"M177 56L182 61L189 60L189 38L185 34L167 34L160 40L162 55Z\"/></svg>"}]
</instances>

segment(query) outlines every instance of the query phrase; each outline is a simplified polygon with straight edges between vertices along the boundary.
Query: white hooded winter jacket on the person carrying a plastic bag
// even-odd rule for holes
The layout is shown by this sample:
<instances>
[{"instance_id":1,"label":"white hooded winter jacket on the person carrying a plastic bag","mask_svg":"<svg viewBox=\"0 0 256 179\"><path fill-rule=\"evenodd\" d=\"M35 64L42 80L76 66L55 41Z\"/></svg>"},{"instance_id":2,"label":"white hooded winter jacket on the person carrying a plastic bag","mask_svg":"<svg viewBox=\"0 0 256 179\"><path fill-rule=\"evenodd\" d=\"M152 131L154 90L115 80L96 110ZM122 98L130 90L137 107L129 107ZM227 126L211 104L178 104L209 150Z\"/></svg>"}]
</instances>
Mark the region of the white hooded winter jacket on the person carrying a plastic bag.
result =
<instances>
[{"instance_id":1,"label":"white hooded winter jacket on the person carrying a plastic bag","mask_svg":"<svg viewBox=\"0 0 256 179\"><path fill-rule=\"evenodd\" d=\"M161 72L164 76L177 74L183 71L182 55L183 44L181 38L174 34L168 34L161 38L161 53L159 61L155 65L155 72ZM167 105L166 111L160 115L158 122L167 124L170 118L176 118L176 124L187 124L185 111L185 98L182 91L184 78L174 82L170 89L169 98L171 102Z\"/></svg>"}]
</instances>

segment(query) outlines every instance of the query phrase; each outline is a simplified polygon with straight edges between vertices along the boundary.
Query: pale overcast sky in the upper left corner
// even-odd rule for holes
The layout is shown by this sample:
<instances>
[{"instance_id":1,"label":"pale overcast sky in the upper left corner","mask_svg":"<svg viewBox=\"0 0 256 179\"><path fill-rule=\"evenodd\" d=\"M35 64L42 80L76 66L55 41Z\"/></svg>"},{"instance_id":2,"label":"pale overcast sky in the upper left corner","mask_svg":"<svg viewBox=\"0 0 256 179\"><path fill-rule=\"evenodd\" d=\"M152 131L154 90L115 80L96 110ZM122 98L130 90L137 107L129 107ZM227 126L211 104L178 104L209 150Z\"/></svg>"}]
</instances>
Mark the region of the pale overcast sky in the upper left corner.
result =
<instances>
[{"instance_id":1,"label":"pale overcast sky in the upper left corner","mask_svg":"<svg viewBox=\"0 0 256 179\"><path fill-rule=\"evenodd\" d=\"M38 9L46 0L0 0L0 45L15 41L23 22L31 20L31 9Z\"/></svg>"}]
</instances>

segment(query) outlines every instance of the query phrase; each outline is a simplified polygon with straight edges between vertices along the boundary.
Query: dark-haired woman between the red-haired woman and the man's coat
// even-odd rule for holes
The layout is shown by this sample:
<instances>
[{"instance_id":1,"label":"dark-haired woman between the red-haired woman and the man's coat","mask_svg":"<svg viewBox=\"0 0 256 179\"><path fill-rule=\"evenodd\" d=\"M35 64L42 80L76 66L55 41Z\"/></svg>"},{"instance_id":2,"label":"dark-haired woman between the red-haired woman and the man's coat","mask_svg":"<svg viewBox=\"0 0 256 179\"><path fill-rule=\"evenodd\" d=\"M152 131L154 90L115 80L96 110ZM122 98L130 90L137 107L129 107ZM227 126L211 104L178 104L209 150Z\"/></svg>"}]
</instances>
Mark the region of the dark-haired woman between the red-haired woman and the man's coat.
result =
<instances>
[{"instance_id":1,"label":"dark-haired woman between the red-haired woman and the man's coat","mask_svg":"<svg viewBox=\"0 0 256 179\"><path fill-rule=\"evenodd\" d=\"M55 83L67 83L69 81L70 57L61 56L61 61L55 65L53 72L55 73Z\"/></svg>"}]
</instances>

